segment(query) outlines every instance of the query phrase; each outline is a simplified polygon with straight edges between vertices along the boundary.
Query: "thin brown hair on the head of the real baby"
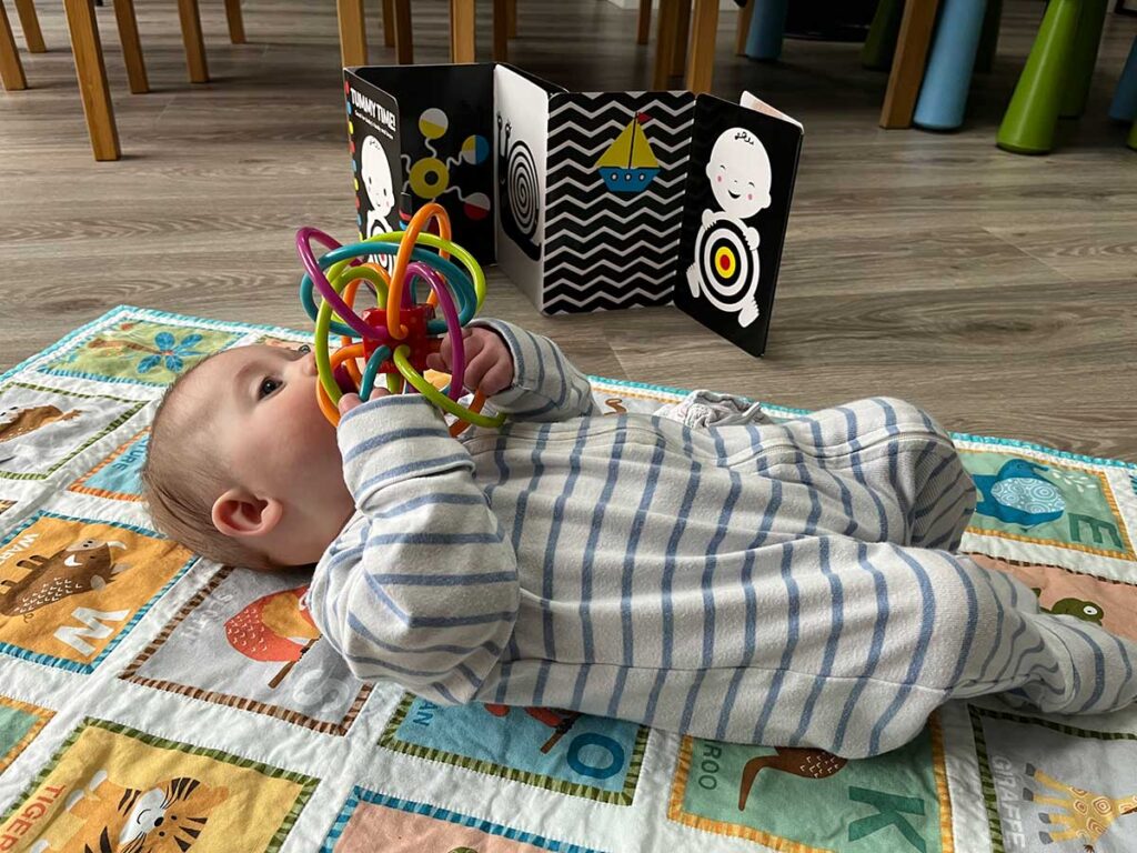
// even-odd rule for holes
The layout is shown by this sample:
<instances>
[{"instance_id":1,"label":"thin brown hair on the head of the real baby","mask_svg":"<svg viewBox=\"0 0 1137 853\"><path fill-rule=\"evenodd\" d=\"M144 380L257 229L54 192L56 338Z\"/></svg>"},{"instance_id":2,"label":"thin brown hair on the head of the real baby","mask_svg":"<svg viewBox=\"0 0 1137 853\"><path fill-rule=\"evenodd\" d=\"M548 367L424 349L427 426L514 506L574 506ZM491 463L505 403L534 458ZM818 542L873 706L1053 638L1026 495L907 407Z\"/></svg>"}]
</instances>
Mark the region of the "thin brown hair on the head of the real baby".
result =
<instances>
[{"instance_id":1,"label":"thin brown hair on the head of the real baby","mask_svg":"<svg viewBox=\"0 0 1137 853\"><path fill-rule=\"evenodd\" d=\"M279 569L264 554L214 525L213 504L224 488L222 466L216 455L194 440L211 426L174 411L176 407L171 405L182 384L216 355L201 359L179 376L158 404L142 464L143 497L153 525L196 554L227 565L262 571Z\"/></svg>"}]
</instances>

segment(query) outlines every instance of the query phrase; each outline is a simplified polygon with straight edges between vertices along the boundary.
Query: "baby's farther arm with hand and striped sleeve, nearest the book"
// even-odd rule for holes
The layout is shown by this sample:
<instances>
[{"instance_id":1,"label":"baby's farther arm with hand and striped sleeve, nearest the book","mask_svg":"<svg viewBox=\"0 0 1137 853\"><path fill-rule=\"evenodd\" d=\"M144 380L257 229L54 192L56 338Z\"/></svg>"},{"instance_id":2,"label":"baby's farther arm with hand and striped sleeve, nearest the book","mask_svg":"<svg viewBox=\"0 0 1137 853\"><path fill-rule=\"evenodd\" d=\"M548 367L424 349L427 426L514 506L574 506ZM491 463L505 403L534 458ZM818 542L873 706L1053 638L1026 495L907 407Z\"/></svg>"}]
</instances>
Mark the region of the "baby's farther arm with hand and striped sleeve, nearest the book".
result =
<instances>
[{"instance_id":1,"label":"baby's farther arm with hand and striped sleeve, nearest the book","mask_svg":"<svg viewBox=\"0 0 1137 853\"><path fill-rule=\"evenodd\" d=\"M484 345L479 338L485 334L484 330L496 337L492 343ZM465 330L465 339L476 348L472 357L467 355L475 370L467 367L466 386L472 388L484 374L482 389L498 412L505 412L514 421L542 422L592 414L592 386L548 338L504 320L475 320ZM499 342L504 342L504 349ZM489 366L483 359L495 348L503 363ZM439 370L449 370L450 353L447 340L438 356ZM470 381L471 374L474 382Z\"/></svg>"}]
</instances>

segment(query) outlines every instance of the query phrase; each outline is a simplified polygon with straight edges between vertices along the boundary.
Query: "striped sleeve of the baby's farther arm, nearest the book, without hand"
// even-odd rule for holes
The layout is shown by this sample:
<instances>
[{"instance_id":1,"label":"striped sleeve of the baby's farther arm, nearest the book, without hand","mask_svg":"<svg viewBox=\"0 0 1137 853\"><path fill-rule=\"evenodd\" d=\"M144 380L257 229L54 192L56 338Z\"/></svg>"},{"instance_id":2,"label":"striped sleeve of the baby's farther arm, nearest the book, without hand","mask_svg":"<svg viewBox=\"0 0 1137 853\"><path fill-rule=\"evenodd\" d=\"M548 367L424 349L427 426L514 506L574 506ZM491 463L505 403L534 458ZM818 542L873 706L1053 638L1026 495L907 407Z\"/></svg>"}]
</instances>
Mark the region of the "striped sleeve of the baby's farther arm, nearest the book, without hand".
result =
<instances>
[{"instance_id":1,"label":"striped sleeve of the baby's farther arm, nearest the book, without hand","mask_svg":"<svg viewBox=\"0 0 1137 853\"><path fill-rule=\"evenodd\" d=\"M470 325L500 334L513 356L513 384L489 400L497 411L515 421L542 422L592 414L592 386L556 343L504 320Z\"/></svg>"}]
</instances>

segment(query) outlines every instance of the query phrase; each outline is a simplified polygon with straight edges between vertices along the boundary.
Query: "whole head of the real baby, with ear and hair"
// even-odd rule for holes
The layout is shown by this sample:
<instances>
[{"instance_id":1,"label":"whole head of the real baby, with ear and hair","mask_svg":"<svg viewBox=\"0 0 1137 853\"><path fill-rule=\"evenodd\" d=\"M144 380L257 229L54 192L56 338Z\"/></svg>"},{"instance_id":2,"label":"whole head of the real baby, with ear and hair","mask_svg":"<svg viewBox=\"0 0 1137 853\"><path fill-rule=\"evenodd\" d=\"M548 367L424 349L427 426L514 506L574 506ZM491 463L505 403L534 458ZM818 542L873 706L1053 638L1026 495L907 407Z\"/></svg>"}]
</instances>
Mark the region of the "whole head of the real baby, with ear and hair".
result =
<instances>
[{"instance_id":1,"label":"whole head of the real baby, with ear and hair","mask_svg":"<svg viewBox=\"0 0 1137 853\"><path fill-rule=\"evenodd\" d=\"M252 569L319 560L355 511L310 353L224 350L182 375L155 415L142 469L155 525Z\"/></svg>"}]
</instances>

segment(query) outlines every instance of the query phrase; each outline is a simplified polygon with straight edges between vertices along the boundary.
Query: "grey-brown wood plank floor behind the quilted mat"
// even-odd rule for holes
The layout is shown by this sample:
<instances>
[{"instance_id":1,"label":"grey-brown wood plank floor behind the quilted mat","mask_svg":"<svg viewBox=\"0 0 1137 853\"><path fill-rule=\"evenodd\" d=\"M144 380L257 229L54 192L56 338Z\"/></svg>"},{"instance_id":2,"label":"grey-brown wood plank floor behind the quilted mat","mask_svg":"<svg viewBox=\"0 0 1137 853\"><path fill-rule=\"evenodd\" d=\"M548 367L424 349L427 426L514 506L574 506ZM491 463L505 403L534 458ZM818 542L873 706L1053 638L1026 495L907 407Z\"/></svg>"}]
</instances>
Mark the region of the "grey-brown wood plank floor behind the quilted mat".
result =
<instances>
[{"instance_id":1,"label":"grey-brown wood plank floor behind the quilted mat","mask_svg":"<svg viewBox=\"0 0 1137 853\"><path fill-rule=\"evenodd\" d=\"M416 59L443 61L448 5L414 6ZM0 93L0 370L119 303L305 328L293 233L348 238L355 218L333 3L247 0L249 43L232 45L208 0L214 82L191 85L176 5L139 0L146 96L127 93L99 9L125 152L110 164L91 158L61 3L39 7L51 52L23 55L32 89ZM367 7L372 61L393 61ZM806 127L765 358L672 309L541 317L498 274L488 312L591 373L802 407L896 395L951 429L1137 461L1137 155L1105 115L1137 19L1109 16L1087 115L1028 158L994 136L1043 6L1006 7L954 134L879 130L885 77L858 45L788 41L782 63L752 63L722 16L716 92L749 88ZM644 89L634 33L603 0L521 0L512 59L571 88Z\"/></svg>"}]
</instances>

